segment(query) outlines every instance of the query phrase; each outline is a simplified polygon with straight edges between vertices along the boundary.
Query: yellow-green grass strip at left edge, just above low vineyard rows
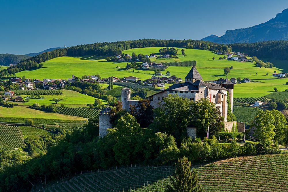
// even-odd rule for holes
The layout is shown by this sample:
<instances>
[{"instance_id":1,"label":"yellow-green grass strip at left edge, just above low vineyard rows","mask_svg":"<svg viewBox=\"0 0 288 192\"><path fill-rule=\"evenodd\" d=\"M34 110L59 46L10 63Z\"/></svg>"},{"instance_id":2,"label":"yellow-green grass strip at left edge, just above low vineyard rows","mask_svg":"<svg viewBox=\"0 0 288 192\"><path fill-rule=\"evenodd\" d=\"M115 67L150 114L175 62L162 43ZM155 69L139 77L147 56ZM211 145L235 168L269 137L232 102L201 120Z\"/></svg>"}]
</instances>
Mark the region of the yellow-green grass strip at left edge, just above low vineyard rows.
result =
<instances>
[{"instance_id":1,"label":"yellow-green grass strip at left edge, just above low vineyard rows","mask_svg":"<svg viewBox=\"0 0 288 192\"><path fill-rule=\"evenodd\" d=\"M27 106L15 106L13 108L0 107L0 117L86 120L83 117L74 117L74 116L62 115L58 113L49 113L49 112L39 111L35 109L30 109L30 108L27 108Z\"/></svg>"}]
</instances>

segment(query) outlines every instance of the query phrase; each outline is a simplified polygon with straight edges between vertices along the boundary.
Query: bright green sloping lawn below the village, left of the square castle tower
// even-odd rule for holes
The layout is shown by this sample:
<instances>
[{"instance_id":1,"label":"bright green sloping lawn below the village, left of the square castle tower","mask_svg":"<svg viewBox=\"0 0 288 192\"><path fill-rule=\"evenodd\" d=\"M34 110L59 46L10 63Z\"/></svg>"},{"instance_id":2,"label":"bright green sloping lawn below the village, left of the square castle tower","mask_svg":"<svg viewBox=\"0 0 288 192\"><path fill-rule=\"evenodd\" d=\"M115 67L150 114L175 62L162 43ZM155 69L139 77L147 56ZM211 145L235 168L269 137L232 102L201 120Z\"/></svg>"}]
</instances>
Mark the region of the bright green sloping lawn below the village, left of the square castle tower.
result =
<instances>
[{"instance_id":1,"label":"bright green sloping lawn below the village, left of the square castle tower","mask_svg":"<svg viewBox=\"0 0 288 192\"><path fill-rule=\"evenodd\" d=\"M53 98L63 98L64 101L58 102L57 105L65 104L66 107L87 107L86 104L94 103L95 98L81 94L76 91L70 91L70 90L62 90L62 95L43 95L43 99L30 99L29 102L17 102L18 105L33 105L34 103L39 103L40 105L50 105L55 104L54 101L52 101ZM29 97L29 95L22 95L23 98ZM100 99L104 104L107 103L107 101Z\"/></svg>"}]
</instances>

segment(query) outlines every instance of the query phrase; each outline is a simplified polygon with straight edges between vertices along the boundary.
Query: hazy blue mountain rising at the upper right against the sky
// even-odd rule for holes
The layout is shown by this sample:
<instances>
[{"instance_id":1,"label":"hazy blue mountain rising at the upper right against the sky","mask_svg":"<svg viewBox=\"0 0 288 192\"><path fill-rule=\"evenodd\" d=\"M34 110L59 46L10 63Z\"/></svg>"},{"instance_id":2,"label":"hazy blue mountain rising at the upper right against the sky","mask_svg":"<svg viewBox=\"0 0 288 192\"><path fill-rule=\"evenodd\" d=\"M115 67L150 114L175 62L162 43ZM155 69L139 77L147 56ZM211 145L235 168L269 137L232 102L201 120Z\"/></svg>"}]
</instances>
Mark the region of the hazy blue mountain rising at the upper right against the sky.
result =
<instances>
[{"instance_id":1,"label":"hazy blue mountain rising at the upper right against the sky","mask_svg":"<svg viewBox=\"0 0 288 192\"><path fill-rule=\"evenodd\" d=\"M275 18L259 25L227 30L225 35L210 35L201 40L215 43L254 43L269 40L288 40L288 9L278 13Z\"/></svg>"}]
</instances>

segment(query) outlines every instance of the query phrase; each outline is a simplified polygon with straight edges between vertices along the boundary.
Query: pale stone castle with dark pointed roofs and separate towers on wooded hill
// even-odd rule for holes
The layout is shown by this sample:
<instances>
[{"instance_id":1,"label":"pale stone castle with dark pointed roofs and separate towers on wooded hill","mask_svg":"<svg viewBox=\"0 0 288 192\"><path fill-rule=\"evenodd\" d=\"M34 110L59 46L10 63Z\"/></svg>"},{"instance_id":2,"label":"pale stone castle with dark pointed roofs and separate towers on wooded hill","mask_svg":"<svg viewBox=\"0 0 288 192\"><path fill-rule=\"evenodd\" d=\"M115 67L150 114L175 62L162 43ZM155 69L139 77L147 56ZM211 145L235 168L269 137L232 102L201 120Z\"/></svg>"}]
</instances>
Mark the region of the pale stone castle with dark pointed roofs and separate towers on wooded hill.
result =
<instances>
[{"instance_id":1,"label":"pale stone castle with dark pointed roofs and separate towers on wooded hill","mask_svg":"<svg viewBox=\"0 0 288 192\"><path fill-rule=\"evenodd\" d=\"M231 111L233 111L233 89L234 83L232 83L228 78L221 82L221 84L217 83L205 83L202 81L202 76L197 71L196 67L193 66L192 69L185 77L184 83L176 83L169 86L168 89L158 92L154 95L148 97L150 100L150 104L155 108L160 107L164 98L168 96L168 94L177 94L182 98L188 98L192 101L200 100L201 98L208 98L211 102L213 102L221 112L221 115L224 117L224 121L227 121L227 111L228 111L228 103L227 103L227 91L229 92L229 99L231 104ZM129 88L122 89L121 101L124 110L129 111L130 105L137 105L138 100L130 99L131 90ZM107 120L105 118L109 117L109 109L103 109L100 111L99 117L99 133L101 136L105 135L105 131L107 128L110 128L107 125ZM103 114L104 113L104 114ZM105 116L107 115L107 116ZM109 122L109 121L108 121ZM104 125L105 124L105 125ZM188 129L187 129L188 130Z\"/></svg>"}]
</instances>

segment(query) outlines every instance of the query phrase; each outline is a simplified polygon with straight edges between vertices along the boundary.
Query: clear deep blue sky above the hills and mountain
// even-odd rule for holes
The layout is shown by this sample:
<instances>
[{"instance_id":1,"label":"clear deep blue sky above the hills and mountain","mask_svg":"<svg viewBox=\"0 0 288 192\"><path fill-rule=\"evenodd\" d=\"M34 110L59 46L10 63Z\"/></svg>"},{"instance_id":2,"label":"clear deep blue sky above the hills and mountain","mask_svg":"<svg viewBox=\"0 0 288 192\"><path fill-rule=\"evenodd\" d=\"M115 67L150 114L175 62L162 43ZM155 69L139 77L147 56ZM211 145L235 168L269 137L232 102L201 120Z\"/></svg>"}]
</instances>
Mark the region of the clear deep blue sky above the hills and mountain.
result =
<instances>
[{"instance_id":1,"label":"clear deep blue sky above the hills and mountain","mask_svg":"<svg viewBox=\"0 0 288 192\"><path fill-rule=\"evenodd\" d=\"M274 18L288 1L13 0L0 7L0 53L28 54L99 41L223 35Z\"/></svg>"}]
</instances>

